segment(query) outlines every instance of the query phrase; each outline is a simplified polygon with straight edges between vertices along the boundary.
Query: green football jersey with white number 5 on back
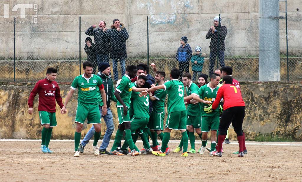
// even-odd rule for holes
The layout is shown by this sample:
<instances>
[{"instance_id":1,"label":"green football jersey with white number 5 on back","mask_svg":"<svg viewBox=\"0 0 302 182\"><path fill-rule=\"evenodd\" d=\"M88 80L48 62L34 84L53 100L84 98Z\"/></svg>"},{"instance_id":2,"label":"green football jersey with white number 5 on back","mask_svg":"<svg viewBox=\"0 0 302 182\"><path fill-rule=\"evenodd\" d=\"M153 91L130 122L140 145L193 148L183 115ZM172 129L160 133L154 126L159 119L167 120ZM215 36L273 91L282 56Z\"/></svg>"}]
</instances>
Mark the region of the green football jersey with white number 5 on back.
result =
<instances>
[{"instance_id":1,"label":"green football jersey with white number 5 on back","mask_svg":"<svg viewBox=\"0 0 302 182\"><path fill-rule=\"evenodd\" d=\"M164 83L165 90L168 94L168 114L174 111L185 111L184 103L184 85L177 79Z\"/></svg>"}]
</instances>

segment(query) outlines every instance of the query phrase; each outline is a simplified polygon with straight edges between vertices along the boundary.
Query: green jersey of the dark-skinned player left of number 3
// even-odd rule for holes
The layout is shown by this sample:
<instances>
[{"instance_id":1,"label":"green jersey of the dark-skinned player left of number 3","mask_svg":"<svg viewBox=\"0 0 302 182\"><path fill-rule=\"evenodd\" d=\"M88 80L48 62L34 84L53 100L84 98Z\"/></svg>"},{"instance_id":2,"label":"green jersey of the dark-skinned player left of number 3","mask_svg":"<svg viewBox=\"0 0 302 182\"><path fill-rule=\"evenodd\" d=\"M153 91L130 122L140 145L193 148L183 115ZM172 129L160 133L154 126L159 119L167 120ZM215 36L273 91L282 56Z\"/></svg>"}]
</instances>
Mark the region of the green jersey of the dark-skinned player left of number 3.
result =
<instances>
[{"instance_id":1,"label":"green jersey of the dark-skinned player left of number 3","mask_svg":"<svg viewBox=\"0 0 302 182\"><path fill-rule=\"evenodd\" d=\"M127 108L130 108L132 87L130 77L127 74L125 74L122 79L117 81L115 90L120 93L120 98L124 101ZM116 107L123 107L123 105L117 101Z\"/></svg>"}]
</instances>

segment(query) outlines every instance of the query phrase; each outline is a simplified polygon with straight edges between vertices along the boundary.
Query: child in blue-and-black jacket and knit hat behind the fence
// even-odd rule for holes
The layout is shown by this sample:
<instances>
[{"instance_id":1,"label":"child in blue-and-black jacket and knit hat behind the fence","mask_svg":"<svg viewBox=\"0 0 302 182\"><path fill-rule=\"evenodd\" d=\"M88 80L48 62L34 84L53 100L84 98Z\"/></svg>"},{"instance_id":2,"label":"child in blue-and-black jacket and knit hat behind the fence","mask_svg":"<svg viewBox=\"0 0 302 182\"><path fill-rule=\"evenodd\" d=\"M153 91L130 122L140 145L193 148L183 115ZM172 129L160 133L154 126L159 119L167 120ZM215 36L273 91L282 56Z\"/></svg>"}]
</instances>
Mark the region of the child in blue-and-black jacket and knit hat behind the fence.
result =
<instances>
[{"instance_id":1,"label":"child in blue-and-black jacket and knit hat behind the fence","mask_svg":"<svg viewBox=\"0 0 302 182\"><path fill-rule=\"evenodd\" d=\"M180 39L180 43L182 44L176 52L176 60L178 61L180 76L179 79L182 77L182 73L185 72L189 73L189 64L190 59L192 57L192 49L189 44L187 44L188 38L186 36L183 36Z\"/></svg>"}]
</instances>

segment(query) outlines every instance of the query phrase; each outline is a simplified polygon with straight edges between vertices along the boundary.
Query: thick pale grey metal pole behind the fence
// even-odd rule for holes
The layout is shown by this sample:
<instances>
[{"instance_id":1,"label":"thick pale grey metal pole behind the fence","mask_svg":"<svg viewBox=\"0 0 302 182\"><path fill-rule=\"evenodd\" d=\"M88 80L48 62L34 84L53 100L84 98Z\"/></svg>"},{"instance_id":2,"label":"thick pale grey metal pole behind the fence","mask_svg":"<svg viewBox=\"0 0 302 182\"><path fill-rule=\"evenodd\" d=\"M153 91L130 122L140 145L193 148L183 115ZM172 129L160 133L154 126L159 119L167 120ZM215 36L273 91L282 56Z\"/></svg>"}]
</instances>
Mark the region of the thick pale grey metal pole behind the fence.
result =
<instances>
[{"instance_id":1,"label":"thick pale grey metal pole behind the fence","mask_svg":"<svg viewBox=\"0 0 302 182\"><path fill-rule=\"evenodd\" d=\"M280 81L279 2L259 1L259 81Z\"/></svg>"}]
</instances>

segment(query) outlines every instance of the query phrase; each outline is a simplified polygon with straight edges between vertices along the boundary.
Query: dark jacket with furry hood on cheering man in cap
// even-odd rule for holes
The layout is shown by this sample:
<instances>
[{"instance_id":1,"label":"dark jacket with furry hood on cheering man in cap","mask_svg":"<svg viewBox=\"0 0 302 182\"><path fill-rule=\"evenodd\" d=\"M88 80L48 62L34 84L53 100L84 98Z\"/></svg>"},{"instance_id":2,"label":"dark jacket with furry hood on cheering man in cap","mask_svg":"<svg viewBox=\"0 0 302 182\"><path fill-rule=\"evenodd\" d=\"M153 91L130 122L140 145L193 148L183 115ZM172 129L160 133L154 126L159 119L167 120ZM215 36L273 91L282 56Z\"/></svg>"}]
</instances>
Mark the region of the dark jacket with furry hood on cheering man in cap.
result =
<instances>
[{"instance_id":1,"label":"dark jacket with furry hood on cheering man in cap","mask_svg":"<svg viewBox=\"0 0 302 182\"><path fill-rule=\"evenodd\" d=\"M110 57L112 59L126 59L126 40L129 38L129 34L124 28L124 24L121 25L120 32L117 31L113 25L111 25L111 29L109 30L110 35Z\"/></svg>"}]
</instances>

